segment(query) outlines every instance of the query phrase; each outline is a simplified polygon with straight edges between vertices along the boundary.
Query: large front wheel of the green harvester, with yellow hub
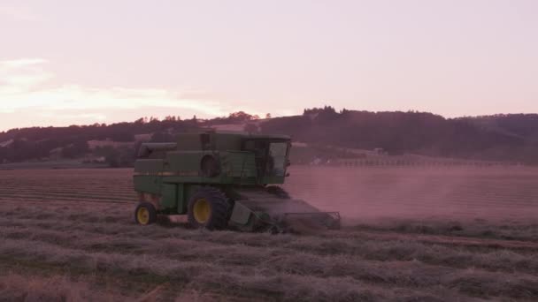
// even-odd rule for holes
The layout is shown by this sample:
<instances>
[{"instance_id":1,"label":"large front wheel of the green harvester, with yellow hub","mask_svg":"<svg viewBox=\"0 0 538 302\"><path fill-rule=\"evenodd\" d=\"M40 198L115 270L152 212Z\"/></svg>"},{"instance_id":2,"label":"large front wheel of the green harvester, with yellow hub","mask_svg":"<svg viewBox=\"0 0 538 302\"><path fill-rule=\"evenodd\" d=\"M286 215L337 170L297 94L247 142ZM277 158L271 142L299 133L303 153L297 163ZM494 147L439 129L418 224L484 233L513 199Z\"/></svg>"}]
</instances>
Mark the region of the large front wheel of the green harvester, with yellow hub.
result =
<instances>
[{"instance_id":1,"label":"large front wheel of the green harvester, with yellow hub","mask_svg":"<svg viewBox=\"0 0 538 302\"><path fill-rule=\"evenodd\" d=\"M222 191L204 186L188 200L188 223L196 229L222 230L227 227L229 210Z\"/></svg>"}]
</instances>

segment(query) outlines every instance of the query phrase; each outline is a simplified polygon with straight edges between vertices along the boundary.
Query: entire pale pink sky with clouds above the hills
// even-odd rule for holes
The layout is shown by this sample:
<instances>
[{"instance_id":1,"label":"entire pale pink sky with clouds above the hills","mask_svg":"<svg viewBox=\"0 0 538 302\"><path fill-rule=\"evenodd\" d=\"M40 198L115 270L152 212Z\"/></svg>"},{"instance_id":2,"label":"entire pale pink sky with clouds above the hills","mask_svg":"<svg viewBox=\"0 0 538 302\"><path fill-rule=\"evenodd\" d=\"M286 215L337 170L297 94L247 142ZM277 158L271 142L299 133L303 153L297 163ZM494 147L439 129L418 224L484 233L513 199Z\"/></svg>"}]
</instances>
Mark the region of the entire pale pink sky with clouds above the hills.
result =
<instances>
[{"instance_id":1,"label":"entire pale pink sky with clouds above the hills","mask_svg":"<svg viewBox=\"0 0 538 302\"><path fill-rule=\"evenodd\" d=\"M0 1L0 131L417 109L538 112L538 1Z\"/></svg>"}]
</instances>

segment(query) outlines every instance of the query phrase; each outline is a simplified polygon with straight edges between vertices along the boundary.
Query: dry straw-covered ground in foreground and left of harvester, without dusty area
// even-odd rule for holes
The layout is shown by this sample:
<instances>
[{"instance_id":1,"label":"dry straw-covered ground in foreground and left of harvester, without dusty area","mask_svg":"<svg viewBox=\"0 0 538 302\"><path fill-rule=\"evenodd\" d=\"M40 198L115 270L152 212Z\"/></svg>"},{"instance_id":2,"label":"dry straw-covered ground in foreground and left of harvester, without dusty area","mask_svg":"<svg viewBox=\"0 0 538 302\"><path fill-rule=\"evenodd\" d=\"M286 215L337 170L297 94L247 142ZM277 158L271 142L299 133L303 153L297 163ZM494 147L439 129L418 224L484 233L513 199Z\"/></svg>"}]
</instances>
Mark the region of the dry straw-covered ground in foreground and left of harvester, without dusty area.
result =
<instances>
[{"instance_id":1,"label":"dry straw-covered ground in foreground and left of harvester, without dusty area","mask_svg":"<svg viewBox=\"0 0 538 302\"><path fill-rule=\"evenodd\" d=\"M126 170L9 173L0 301L538 298L538 226L525 221L371 219L303 236L141 227Z\"/></svg>"}]
</instances>

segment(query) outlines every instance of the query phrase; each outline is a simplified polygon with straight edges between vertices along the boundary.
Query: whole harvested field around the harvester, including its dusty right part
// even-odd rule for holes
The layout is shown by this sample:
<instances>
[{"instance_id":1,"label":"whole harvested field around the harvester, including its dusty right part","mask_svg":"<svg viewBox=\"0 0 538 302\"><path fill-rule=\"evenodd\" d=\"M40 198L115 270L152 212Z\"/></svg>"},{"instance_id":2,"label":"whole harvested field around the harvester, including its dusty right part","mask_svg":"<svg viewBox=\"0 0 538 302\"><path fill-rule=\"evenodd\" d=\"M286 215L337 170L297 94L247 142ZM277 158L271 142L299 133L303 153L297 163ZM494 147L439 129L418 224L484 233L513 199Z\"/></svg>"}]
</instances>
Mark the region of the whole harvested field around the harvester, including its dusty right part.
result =
<instances>
[{"instance_id":1,"label":"whole harvested field around the harvester, including its dusty right part","mask_svg":"<svg viewBox=\"0 0 538 302\"><path fill-rule=\"evenodd\" d=\"M131 170L0 171L0 300L538 299L538 170L294 167L303 235L135 225Z\"/></svg>"}]
</instances>

